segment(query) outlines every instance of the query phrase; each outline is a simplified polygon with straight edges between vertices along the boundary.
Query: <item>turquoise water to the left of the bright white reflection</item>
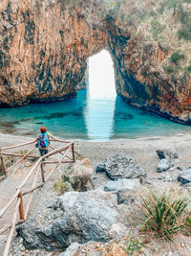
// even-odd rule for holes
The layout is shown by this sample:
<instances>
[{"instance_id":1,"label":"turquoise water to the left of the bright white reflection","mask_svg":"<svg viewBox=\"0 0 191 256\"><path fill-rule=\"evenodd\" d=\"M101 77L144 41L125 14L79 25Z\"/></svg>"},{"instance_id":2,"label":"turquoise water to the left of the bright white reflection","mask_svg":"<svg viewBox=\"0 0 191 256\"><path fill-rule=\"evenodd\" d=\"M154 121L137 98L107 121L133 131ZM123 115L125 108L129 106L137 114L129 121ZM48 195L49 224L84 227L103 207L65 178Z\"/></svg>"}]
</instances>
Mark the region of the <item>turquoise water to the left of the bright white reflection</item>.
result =
<instances>
[{"instance_id":1,"label":"turquoise water to the left of the bright white reflection","mask_svg":"<svg viewBox=\"0 0 191 256\"><path fill-rule=\"evenodd\" d=\"M41 126L45 126L57 136L88 139L84 120L86 94L86 90L82 90L76 99L0 109L0 130L35 135Z\"/></svg>"}]
</instances>

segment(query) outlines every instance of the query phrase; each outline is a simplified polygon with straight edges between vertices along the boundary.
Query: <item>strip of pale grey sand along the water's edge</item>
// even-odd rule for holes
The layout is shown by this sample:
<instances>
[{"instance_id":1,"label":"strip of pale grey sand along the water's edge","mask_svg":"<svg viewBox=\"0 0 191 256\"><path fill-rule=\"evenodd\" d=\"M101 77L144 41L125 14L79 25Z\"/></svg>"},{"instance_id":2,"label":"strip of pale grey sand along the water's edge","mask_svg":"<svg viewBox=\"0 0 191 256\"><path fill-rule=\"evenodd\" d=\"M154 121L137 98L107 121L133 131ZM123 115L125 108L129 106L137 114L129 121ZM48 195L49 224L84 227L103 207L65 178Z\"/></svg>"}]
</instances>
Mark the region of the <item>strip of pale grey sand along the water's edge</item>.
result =
<instances>
[{"instance_id":1,"label":"strip of pale grey sand along the water's edge","mask_svg":"<svg viewBox=\"0 0 191 256\"><path fill-rule=\"evenodd\" d=\"M0 148L32 141L33 138L34 137L0 133ZM155 171L159 163L159 157L156 150L166 149L177 151L179 154L179 159L177 161L180 167L183 168L187 167L189 164L191 165L190 142L191 133L179 133L168 137L155 136L138 139L110 140L106 142L74 140L74 147L76 151L91 160L91 165L94 170L108 155L117 152L126 152L137 159L138 163L142 165L148 175L156 175Z\"/></svg>"}]
</instances>

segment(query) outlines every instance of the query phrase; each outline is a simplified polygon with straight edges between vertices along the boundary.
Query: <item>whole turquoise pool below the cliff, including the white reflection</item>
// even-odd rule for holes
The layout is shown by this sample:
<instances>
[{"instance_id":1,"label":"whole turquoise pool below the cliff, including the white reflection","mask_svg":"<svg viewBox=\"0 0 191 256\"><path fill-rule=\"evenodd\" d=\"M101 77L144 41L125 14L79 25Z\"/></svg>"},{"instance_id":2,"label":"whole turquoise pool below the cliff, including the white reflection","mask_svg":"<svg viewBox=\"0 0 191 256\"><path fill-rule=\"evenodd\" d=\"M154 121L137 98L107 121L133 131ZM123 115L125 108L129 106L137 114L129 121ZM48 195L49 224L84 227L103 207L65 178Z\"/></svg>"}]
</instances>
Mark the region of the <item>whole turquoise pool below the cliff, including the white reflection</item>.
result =
<instances>
[{"instance_id":1,"label":"whole turquoise pool below the cliff, including the white reflection","mask_svg":"<svg viewBox=\"0 0 191 256\"><path fill-rule=\"evenodd\" d=\"M66 139L106 141L118 138L172 135L189 131L151 112L116 99L91 99L88 91L77 99L0 109L0 131L35 136L41 126Z\"/></svg>"}]
</instances>

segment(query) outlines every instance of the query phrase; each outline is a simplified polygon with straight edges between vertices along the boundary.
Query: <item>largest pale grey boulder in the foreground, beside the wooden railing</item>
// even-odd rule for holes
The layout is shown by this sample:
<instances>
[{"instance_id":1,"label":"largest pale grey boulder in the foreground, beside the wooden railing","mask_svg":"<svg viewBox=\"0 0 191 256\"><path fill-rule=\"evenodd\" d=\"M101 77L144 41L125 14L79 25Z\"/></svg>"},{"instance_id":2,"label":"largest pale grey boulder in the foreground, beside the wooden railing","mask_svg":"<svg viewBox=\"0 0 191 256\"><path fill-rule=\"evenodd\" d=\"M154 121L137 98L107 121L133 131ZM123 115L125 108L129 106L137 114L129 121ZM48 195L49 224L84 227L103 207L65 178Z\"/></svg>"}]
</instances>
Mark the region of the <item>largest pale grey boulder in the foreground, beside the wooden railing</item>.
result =
<instances>
[{"instance_id":1,"label":"largest pale grey boulder in the foreground, beside the wooden railing","mask_svg":"<svg viewBox=\"0 0 191 256\"><path fill-rule=\"evenodd\" d=\"M72 243L107 242L127 232L120 209L115 194L101 190L67 192L53 203L48 220L26 221L17 232L27 248L63 251Z\"/></svg>"}]
</instances>

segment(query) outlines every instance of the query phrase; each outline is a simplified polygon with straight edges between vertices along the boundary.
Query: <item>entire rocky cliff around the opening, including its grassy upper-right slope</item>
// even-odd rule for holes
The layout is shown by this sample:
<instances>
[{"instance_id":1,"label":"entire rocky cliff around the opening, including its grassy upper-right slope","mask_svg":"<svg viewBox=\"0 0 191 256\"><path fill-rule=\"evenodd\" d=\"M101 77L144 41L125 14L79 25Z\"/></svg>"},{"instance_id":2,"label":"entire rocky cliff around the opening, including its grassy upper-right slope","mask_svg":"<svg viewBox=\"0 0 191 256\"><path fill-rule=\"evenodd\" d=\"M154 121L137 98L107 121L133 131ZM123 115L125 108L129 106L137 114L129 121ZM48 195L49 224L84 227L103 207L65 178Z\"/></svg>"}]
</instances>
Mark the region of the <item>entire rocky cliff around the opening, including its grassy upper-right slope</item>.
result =
<instances>
[{"instance_id":1,"label":"entire rocky cliff around the opening, including its grassy upper-right slope","mask_svg":"<svg viewBox=\"0 0 191 256\"><path fill-rule=\"evenodd\" d=\"M190 123L190 12L187 0L3 0L0 105L76 96L87 58L107 49L118 95Z\"/></svg>"}]
</instances>

